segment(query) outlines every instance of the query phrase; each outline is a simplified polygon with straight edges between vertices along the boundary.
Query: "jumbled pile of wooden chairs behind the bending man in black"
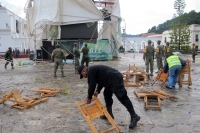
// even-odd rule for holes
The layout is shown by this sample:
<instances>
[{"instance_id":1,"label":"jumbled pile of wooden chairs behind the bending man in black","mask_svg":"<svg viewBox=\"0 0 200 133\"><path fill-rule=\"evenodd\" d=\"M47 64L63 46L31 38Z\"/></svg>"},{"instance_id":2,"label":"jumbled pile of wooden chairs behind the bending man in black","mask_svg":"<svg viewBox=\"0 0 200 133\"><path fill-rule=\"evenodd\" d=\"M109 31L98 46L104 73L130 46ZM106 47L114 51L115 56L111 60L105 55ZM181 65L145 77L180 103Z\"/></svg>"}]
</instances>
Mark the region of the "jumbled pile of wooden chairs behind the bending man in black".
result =
<instances>
[{"instance_id":1,"label":"jumbled pile of wooden chairs behind the bending man in black","mask_svg":"<svg viewBox=\"0 0 200 133\"><path fill-rule=\"evenodd\" d=\"M130 66L127 71L122 72L124 85L126 87L139 87L146 84L149 74L144 70L138 69L135 65ZM131 79L134 79L131 81Z\"/></svg>"}]
</instances>

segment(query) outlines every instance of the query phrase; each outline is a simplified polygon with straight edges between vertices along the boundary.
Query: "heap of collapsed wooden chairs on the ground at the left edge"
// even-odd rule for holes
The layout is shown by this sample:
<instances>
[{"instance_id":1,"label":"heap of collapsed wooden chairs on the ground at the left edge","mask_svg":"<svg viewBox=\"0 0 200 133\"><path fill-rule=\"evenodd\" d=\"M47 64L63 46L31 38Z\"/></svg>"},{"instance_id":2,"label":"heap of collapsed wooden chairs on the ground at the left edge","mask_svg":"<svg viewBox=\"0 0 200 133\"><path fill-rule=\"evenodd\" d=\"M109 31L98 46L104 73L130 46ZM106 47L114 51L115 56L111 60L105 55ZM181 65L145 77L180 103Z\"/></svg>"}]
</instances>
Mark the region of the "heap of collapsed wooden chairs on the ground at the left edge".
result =
<instances>
[{"instance_id":1,"label":"heap of collapsed wooden chairs on the ground at the left edge","mask_svg":"<svg viewBox=\"0 0 200 133\"><path fill-rule=\"evenodd\" d=\"M21 95L21 91L15 89L15 90L11 90L8 93L4 94L4 96L1 99L1 104L6 102L6 101L10 101L10 102L14 102L16 104L12 105L12 108L18 108L18 109L27 109L30 108L36 104L39 104L41 102L46 101L48 98L38 98L38 97L34 97L34 98L23 98Z\"/></svg>"}]
</instances>

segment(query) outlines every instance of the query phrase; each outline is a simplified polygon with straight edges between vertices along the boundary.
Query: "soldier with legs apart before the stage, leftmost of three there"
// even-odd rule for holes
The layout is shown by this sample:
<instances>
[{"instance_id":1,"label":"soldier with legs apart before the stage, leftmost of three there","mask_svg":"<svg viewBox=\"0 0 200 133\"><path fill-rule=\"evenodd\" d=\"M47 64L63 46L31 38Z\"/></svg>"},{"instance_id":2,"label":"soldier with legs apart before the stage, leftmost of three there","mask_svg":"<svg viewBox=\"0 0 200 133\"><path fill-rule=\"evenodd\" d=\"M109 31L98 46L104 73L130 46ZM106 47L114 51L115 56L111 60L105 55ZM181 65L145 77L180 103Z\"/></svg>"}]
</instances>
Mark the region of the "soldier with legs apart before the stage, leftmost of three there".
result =
<instances>
[{"instance_id":1,"label":"soldier with legs apart before the stage, leftmost of three there","mask_svg":"<svg viewBox=\"0 0 200 133\"><path fill-rule=\"evenodd\" d=\"M66 57L63 50L60 49L60 45L58 44L56 45L56 49L53 50L51 56L52 56L52 61L54 62L54 77L57 77L56 71L58 69L58 66L60 66L62 77L65 77L63 73L63 66L64 66L63 60L66 60Z\"/></svg>"}]
</instances>

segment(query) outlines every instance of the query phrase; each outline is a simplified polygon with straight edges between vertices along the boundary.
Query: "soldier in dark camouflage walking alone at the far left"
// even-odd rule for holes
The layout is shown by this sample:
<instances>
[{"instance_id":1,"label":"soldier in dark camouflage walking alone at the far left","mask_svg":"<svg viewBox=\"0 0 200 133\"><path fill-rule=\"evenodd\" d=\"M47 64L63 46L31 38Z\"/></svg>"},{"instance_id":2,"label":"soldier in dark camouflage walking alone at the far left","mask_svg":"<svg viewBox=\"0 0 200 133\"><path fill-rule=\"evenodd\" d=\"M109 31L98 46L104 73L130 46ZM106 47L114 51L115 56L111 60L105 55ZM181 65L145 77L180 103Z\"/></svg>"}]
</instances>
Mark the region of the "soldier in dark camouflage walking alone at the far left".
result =
<instances>
[{"instance_id":1,"label":"soldier in dark camouflage walking alone at the far left","mask_svg":"<svg viewBox=\"0 0 200 133\"><path fill-rule=\"evenodd\" d=\"M8 50L6 51L4 58L6 60L6 64L4 66L5 69L7 69L7 65L9 64L9 62L11 62L11 68L15 69L13 67L13 53L12 53L12 48L11 47L9 47Z\"/></svg>"}]
</instances>

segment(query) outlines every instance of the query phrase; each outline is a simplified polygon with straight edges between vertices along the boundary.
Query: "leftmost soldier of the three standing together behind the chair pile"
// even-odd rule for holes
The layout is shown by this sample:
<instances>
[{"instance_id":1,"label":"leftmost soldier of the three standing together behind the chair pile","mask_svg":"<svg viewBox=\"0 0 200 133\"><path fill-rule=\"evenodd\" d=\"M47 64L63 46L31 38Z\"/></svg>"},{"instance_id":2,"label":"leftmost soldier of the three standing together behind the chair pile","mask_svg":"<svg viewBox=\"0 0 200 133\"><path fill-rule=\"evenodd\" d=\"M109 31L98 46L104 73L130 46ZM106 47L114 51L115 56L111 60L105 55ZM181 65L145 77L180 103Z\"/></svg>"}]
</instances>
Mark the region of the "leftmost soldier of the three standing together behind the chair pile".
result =
<instances>
[{"instance_id":1,"label":"leftmost soldier of the three standing together behind the chair pile","mask_svg":"<svg viewBox=\"0 0 200 133\"><path fill-rule=\"evenodd\" d=\"M153 76L153 55L154 55L154 48L151 46L151 40L148 40L148 46L144 50L143 59L145 60L146 65L146 72L149 73L149 65L150 65L150 76Z\"/></svg>"}]
</instances>

